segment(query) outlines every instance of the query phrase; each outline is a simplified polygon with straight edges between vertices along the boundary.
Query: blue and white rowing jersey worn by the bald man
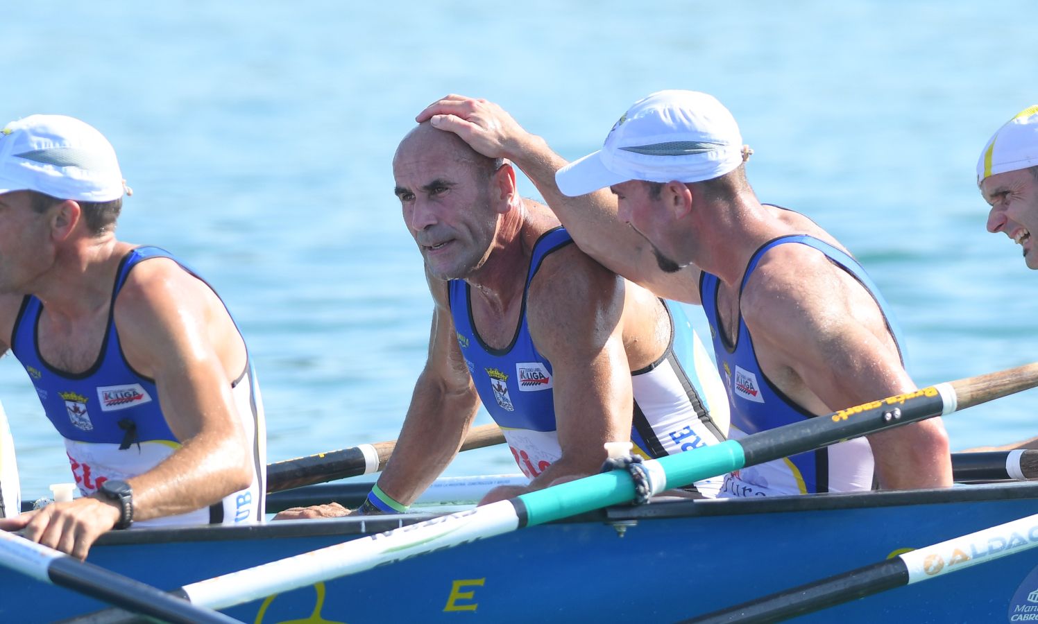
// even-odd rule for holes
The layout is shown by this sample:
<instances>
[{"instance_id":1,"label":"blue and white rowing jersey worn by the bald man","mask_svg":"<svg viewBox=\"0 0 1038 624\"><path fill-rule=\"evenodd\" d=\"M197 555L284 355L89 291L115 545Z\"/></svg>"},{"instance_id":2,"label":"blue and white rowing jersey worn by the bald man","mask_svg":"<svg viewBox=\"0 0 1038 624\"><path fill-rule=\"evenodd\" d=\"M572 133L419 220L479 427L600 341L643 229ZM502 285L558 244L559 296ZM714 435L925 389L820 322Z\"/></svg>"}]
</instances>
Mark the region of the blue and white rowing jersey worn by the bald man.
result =
<instances>
[{"instance_id":1,"label":"blue and white rowing jersey worn by the bald man","mask_svg":"<svg viewBox=\"0 0 1038 624\"><path fill-rule=\"evenodd\" d=\"M463 280L448 284L458 344L472 381L504 432L519 469L530 478L562 457L562 448L552 397L554 373L529 335L526 297L544 259L572 242L559 227L545 232L534 246L519 323L503 349L487 345L475 331L468 284ZM645 457L717 444L728 431L728 401L709 354L680 307L667 302L663 308L671 315L671 341L656 362L631 373L631 442ZM704 495L715 495L720 481L704 480L695 487Z\"/></svg>"}]
</instances>

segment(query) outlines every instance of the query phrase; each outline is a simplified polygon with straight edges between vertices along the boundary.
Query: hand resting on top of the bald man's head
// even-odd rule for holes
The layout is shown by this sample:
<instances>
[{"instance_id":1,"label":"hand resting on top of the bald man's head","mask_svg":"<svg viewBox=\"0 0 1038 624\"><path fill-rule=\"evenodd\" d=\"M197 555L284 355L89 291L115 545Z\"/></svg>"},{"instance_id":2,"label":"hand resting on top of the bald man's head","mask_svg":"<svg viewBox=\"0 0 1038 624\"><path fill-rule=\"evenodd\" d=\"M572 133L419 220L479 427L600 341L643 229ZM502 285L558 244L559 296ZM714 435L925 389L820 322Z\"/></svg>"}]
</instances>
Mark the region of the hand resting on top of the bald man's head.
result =
<instances>
[{"instance_id":1,"label":"hand resting on top of the bald man's head","mask_svg":"<svg viewBox=\"0 0 1038 624\"><path fill-rule=\"evenodd\" d=\"M450 94L426 107L415 121L453 132L469 146L491 159L512 159L526 141L527 133L504 109L486 100Z\"/></svg>"}]
</instances>

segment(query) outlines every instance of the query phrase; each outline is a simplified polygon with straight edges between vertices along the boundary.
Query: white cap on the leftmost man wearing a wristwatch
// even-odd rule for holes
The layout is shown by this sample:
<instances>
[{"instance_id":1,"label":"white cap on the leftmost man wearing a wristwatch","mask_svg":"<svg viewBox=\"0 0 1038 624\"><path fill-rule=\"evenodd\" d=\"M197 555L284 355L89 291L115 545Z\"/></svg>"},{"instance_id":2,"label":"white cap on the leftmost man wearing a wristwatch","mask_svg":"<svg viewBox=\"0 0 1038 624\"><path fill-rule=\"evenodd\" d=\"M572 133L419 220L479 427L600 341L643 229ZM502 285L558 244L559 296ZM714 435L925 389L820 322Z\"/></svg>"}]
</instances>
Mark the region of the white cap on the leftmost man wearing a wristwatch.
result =
<instances>
[{"instance_id":1,"label":"white cap on the leftmost man wearing a wristwatch","mask_svg":"<svg viewBox=\"0 0 1038 624\"><path fill-rule=\"evenodd\" d=\"M0 130L0 193L11 191L89 202L129 192L108 139L64 115L30 115Z\"/></svg>"}]
</instances>

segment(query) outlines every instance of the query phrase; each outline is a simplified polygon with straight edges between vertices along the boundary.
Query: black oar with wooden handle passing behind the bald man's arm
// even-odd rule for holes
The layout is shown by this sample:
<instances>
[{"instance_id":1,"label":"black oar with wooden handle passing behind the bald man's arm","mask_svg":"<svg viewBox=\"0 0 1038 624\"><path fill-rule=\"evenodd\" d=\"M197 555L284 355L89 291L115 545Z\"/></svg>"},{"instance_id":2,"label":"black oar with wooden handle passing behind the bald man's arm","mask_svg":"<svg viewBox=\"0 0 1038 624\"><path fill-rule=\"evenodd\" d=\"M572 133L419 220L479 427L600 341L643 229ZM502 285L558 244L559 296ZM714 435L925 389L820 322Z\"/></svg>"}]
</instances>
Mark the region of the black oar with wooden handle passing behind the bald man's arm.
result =
<instances>
[{"instance_id":1,"label":"black oar with wooden handle passing behind the bald man's arm","mask_svg":"<svg viewBox=\"0 0 1038 624\"><path fill-rule=\"evenodd\" d=\"M481 449L503 442L504 434L497 425L482 425L468 432L461 450ZM377 473L385 467L394 448L397 441L392 439L269 463L267 491L281 491L345 477Z\"/></svg>"}]
</instances>

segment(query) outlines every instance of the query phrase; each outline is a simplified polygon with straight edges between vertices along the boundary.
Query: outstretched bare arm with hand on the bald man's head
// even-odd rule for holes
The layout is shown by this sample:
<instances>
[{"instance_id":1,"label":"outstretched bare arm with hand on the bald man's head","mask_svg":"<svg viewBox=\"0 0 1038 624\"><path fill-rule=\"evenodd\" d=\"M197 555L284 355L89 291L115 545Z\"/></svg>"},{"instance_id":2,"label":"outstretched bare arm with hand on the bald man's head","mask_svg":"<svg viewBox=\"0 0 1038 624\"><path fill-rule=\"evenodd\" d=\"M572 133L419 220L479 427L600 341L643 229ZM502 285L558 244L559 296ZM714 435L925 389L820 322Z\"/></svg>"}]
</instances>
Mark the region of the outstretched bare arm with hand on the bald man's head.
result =
<instances>
[{"instance_id":1,"label":"outstretched bare arm with hand on the bald man's head","mask_svg":"<svg viewBox=\"0 0 1038 624\"><path fill-rule=\"evenodd\" d=\"M676 274L660 271L649 243L617 217L617 199L608 189L579 197L563 195L555 183L555 172L566 161L496 104L447 95L430 105L416 120L429 120L440 130L457 134L486 157L515 163L541 192L580 250L610 271L659 296L699 303L698 270L687 267Z\"/></svg>"}]
</instances>

